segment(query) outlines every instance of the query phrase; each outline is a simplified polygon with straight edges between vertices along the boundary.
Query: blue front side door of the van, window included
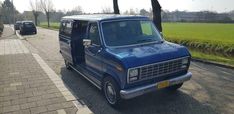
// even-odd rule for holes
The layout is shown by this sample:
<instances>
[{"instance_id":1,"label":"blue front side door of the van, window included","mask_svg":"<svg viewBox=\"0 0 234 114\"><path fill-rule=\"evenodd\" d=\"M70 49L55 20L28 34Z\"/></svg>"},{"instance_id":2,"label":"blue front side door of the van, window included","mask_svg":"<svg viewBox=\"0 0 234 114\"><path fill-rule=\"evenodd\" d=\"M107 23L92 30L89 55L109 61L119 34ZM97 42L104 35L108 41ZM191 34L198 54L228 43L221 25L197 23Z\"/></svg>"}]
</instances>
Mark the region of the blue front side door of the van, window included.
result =
<instances>
[{"instance_id":1,"label":"blue front side door of the van, window included","mask_svg":"<svg viewBox=\"0 0 234 114\"><path fill-rule=\"evenodd\" d=\"M90 23L88 27L88 38L92 41L92 44L85 47L85 63L91 72L95 73L96 78L101 79L102 71L102 57L100 53L102 51L100 43L100 34L97 23Z\"/></svg>"}]
</instances>

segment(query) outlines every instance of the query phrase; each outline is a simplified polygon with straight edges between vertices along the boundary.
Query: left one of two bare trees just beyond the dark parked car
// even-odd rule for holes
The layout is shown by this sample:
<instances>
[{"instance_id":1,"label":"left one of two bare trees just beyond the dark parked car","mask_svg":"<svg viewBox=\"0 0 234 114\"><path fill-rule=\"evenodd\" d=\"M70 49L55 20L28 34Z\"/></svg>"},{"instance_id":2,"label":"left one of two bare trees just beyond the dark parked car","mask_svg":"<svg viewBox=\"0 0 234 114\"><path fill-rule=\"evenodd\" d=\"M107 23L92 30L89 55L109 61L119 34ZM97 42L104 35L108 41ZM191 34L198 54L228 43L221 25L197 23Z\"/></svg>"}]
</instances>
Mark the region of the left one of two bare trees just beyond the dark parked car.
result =
<instances>
[{"instance_id":1,"label":"left one of two bare trees just beyond the dark parked car","mask_svg":"<svg viewBox=\"0 0 234 114\"><path fill-rule=\"evenodd\" d=\"M38 16L40 14L40 2L38 2L38 0L30 0L30 7L34 16L34 21L36 26L38 25Z\"/></svg>"}]
</instances>

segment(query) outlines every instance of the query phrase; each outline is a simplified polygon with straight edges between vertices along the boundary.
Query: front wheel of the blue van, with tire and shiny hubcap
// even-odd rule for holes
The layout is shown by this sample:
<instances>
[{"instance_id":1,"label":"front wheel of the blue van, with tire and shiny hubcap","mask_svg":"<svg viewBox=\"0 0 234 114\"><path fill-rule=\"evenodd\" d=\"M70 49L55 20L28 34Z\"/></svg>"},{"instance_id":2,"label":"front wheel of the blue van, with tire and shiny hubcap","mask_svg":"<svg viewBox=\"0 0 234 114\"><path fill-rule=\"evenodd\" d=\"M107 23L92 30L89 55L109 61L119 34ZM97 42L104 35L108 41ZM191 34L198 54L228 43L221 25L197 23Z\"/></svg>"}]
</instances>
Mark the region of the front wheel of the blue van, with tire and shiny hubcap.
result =
<instances>
[{"instance_id":1,"label":"front wheel of the blue van, with tire and shiny hubcap","mask_svg":"<svg viewBox=\"0 0 234 114\"><path fill-rule=\"evenodd\" d=\"M112 77L106 77L103 80L102 90L106 101L114 108L118 108L122 101L120 97L120 88Z\"/></svg>"}]
</instances>

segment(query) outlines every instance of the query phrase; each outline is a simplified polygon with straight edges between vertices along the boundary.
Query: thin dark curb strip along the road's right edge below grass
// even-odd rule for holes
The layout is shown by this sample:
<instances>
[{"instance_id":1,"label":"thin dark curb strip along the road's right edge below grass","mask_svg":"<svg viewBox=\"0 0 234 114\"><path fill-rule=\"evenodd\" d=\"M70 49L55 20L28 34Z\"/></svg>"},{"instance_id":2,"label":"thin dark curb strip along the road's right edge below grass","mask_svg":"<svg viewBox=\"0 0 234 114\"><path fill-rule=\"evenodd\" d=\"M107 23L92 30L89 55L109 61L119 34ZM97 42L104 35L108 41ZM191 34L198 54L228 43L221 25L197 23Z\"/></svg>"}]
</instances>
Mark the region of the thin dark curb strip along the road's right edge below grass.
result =
<instances>
[{"instance_id":1,"label":"thin dark curb strip along the road's right edge below grass","mask_svg":"<svg viewBox=\"0 0 234 114\"><path fill-rule=\"evenodd\" d=\"M215 65L215 66L219 66L219 67L223 67L223 68L234 69L234 66L231 66L231 65L221 64L221 63L197 59L197 58L192 58L192 61L193 62L201 62L201 63L205 63L205 64L209 64L209 65Z\"/></svg>"}]
</instances>

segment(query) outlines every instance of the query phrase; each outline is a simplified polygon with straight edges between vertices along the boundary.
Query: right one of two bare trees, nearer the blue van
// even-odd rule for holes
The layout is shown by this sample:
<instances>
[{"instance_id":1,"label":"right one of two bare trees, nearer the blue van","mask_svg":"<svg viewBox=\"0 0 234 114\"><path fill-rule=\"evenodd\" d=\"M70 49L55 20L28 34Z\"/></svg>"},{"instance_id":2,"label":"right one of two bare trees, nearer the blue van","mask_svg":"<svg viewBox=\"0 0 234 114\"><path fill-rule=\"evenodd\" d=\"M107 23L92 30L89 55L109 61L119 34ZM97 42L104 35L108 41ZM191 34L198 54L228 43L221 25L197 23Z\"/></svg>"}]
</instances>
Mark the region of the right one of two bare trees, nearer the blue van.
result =
<instances>
[{"instance_id":1,"label":"right one of two bare trees, nearer the blue van","mask_svg":"<svg viewBox=\"0 0 234 114\"><path fill-rule=\"evenodd\" d=\"M52 0L40 0L41 10L46 14L47 24L50 27L50 14L53 11Z\"/></svg>"}]
</instances>

